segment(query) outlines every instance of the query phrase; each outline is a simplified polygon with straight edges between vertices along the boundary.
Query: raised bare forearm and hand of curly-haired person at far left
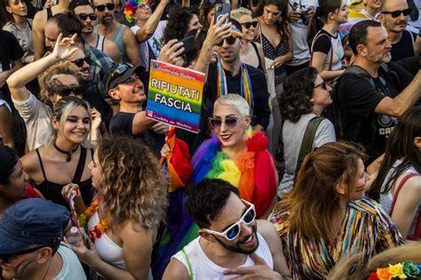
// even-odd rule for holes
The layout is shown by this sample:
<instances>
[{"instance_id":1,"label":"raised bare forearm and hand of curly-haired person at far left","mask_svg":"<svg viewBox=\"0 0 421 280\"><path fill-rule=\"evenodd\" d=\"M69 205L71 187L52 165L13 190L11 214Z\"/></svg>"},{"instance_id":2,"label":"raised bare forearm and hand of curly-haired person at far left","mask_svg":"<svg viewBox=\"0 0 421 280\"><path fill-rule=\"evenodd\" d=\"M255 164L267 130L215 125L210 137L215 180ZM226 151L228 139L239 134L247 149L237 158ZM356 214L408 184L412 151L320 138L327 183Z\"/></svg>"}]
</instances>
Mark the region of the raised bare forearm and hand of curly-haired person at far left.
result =
<instances>
[{"instance_id":1,"label":"raised bare forearm and hand of curly-haired person at far left","mask_svg":"<svg viewBox=\"0 0 421 280\"><path fill-rule=\"evenodd\" d=\"M73 46L73 44L75 44L75 36L76 35L71 38L62 38L62 34L60 34L57 38L58 44L55 45L51 54L41 60L36 60L25 67L20 68L7 79L7 84L9 85L14 100L28 100L30 93L25 85L56 62L68 58L72 53L77 51L77 48Z\"/></svg>"}]
</instances>

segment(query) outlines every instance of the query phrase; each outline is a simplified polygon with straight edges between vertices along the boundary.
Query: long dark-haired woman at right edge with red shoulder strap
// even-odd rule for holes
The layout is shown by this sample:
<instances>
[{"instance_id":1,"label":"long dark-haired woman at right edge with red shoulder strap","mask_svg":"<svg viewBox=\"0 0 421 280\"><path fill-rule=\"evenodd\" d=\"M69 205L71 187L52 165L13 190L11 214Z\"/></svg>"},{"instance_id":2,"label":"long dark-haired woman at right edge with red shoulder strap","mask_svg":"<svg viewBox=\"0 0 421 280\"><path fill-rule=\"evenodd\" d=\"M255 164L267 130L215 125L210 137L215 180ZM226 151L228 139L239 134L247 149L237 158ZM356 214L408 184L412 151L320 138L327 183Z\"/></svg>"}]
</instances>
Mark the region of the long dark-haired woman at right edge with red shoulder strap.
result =
<instances>
[{"instance_id":1,"label":"long dark-haired woman at right edge with red shoulder strap","mask_svg":"<svg viewBox=\"0 0 421 280\"><path fill-rule=\"evenodd\" d=\"M410 108L393 129L377 178L369 189L404 239L421 237L421 107Z\"/></svg>"}]
</instances>

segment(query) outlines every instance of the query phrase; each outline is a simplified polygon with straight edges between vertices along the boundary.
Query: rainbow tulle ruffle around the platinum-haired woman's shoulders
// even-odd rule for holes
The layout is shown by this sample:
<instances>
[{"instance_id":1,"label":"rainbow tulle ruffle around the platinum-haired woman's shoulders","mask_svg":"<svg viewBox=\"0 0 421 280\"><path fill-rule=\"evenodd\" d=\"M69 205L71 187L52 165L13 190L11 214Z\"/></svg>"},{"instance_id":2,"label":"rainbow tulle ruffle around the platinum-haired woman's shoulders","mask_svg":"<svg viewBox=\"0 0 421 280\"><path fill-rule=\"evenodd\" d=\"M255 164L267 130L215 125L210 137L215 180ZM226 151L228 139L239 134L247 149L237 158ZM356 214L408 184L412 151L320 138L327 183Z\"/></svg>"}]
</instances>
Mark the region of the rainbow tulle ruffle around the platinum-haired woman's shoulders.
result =
<instances>
[{"instance_id":1,"label":"rainbow tulle ruffle around the platinum-haired woman's shoulders","mask_svg":"<svg viewBox=\"0 0 421 280\"><path fill-rule=\"evenodd\" d=\"M221 143L213 133L192 158L191 182L198 183L204 178L229 181L239 188L242 199L255 205L257 216L261 216L272 203L277 188L274 159L266 150L267 142L262 132L254 133L247 140L247 151L233 161L221 151Z\"/></svg>"}]
</instances>

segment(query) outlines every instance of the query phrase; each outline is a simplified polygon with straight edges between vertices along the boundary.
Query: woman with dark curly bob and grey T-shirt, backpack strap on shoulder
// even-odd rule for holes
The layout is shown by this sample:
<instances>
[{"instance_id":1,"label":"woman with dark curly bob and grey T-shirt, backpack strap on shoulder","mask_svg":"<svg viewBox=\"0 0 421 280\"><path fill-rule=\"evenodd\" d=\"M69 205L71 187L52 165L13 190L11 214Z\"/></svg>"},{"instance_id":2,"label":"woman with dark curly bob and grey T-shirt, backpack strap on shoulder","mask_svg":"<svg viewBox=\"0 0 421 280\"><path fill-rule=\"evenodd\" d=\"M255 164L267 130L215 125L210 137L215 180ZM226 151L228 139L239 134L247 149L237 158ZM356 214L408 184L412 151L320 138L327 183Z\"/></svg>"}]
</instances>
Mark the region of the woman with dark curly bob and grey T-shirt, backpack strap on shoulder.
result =
<instances>
[{"instance_id":1,"label":"woman with dark curly bob and grey T-shirt, backpack strap on shoulder","mask_svg":"<svg viewBox=\"0 0 421 280\"><path fill-rule=\"evenodd\" d=\"M300 81L300 83L297 83ZM322 116L322 111L332 103L331 88L325 84L315 68L304 68L292 73L283 84L284 92L279 102L282 118L285 120L282 127L282 142L285 159L285 172L278 188L278 196L290 191L294 185L295 175L299 170L300 156L306 128L312 119ZM314 140L310 143L311 151L324 143L336 140L335 129L330 120L323 118L316 127ZM302 161L302 158L301 158ZM300 164L300 163L299 163Z\"/></svg>"}]
</instances>

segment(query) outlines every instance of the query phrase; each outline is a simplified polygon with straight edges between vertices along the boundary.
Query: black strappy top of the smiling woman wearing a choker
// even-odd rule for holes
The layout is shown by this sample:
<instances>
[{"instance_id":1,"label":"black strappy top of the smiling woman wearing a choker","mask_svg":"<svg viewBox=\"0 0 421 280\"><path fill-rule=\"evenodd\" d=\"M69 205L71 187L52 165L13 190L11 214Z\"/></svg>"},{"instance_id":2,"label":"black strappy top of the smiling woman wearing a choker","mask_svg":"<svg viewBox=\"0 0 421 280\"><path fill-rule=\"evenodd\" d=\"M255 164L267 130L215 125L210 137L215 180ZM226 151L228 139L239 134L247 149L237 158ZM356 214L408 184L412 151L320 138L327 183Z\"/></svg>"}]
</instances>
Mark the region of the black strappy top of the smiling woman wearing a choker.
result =
<instances>
[{"instance_id":1,"label":"black strappy top of the smiling woman wearing a choker","mask_svg":"<svg viewBox=\"0 0 421 280\"><path fill-rule=\"evenodd\" d=\"M51 200L55 204L60 204L70 209L68 201L63 196L61 196L61 188L67 184L58 184L47 180L43 159L41 158L41 154L39 153L38 148L36 148L36 155L38 156L39 164L41 165L41 170L44 176L44 181L40 184L36 184L36 188L44 195L45 199ZM93 149L91 149L91 155L93 155ZM86 148L81 146L81 155L76 166L75 176L73 177L71 183L77 184L79 186L83 198L83 204L89 205L92 200L92 180L89 178L88 180L81 181L85 160Z\"/></svg>"}]
</instances>

